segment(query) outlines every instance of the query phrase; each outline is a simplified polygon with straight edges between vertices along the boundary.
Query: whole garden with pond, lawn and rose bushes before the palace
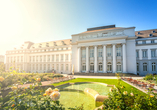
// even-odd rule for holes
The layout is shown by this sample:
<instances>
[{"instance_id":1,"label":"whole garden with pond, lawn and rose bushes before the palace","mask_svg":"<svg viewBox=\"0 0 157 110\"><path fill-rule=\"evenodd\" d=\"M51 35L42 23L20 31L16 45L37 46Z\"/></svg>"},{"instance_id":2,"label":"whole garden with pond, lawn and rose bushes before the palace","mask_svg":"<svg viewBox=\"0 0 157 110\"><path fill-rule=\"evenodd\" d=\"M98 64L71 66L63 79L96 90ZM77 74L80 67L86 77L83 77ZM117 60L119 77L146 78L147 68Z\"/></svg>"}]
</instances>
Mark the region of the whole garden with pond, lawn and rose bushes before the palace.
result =
<instances>
[{"instance_id":1,"label":"whole garden with pond, lawn and rose bushes before the palace","mask_svg":"<svg viewBox=\"0 0 157 110\"><path fill-rule=\"evenodd\" d=\"M74 78L0 70L1 110L156 110L157 76ZM145 92L140 91L140 88Z\"/></svg>"}]
</instances>

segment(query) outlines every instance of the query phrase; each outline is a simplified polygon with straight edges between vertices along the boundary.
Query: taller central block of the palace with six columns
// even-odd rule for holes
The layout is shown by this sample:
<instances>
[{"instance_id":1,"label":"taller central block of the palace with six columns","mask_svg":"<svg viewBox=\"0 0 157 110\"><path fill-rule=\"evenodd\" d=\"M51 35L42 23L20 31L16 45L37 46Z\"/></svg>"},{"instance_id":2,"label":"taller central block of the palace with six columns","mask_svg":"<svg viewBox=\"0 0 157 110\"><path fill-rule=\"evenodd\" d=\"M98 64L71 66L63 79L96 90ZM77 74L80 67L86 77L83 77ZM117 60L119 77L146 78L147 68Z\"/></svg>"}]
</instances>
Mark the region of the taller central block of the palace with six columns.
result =
<instances>
[{"instance_id":1,"label":"taller central block of the palace with six columns","mask_svg":"<svg viewBox=\"0 0 157 110\"><path fill-rule=\"evenodd\" d=\"M72 35L75 72L136 73L134 29L110 25Z\"/></svg>"}]
</instances>

